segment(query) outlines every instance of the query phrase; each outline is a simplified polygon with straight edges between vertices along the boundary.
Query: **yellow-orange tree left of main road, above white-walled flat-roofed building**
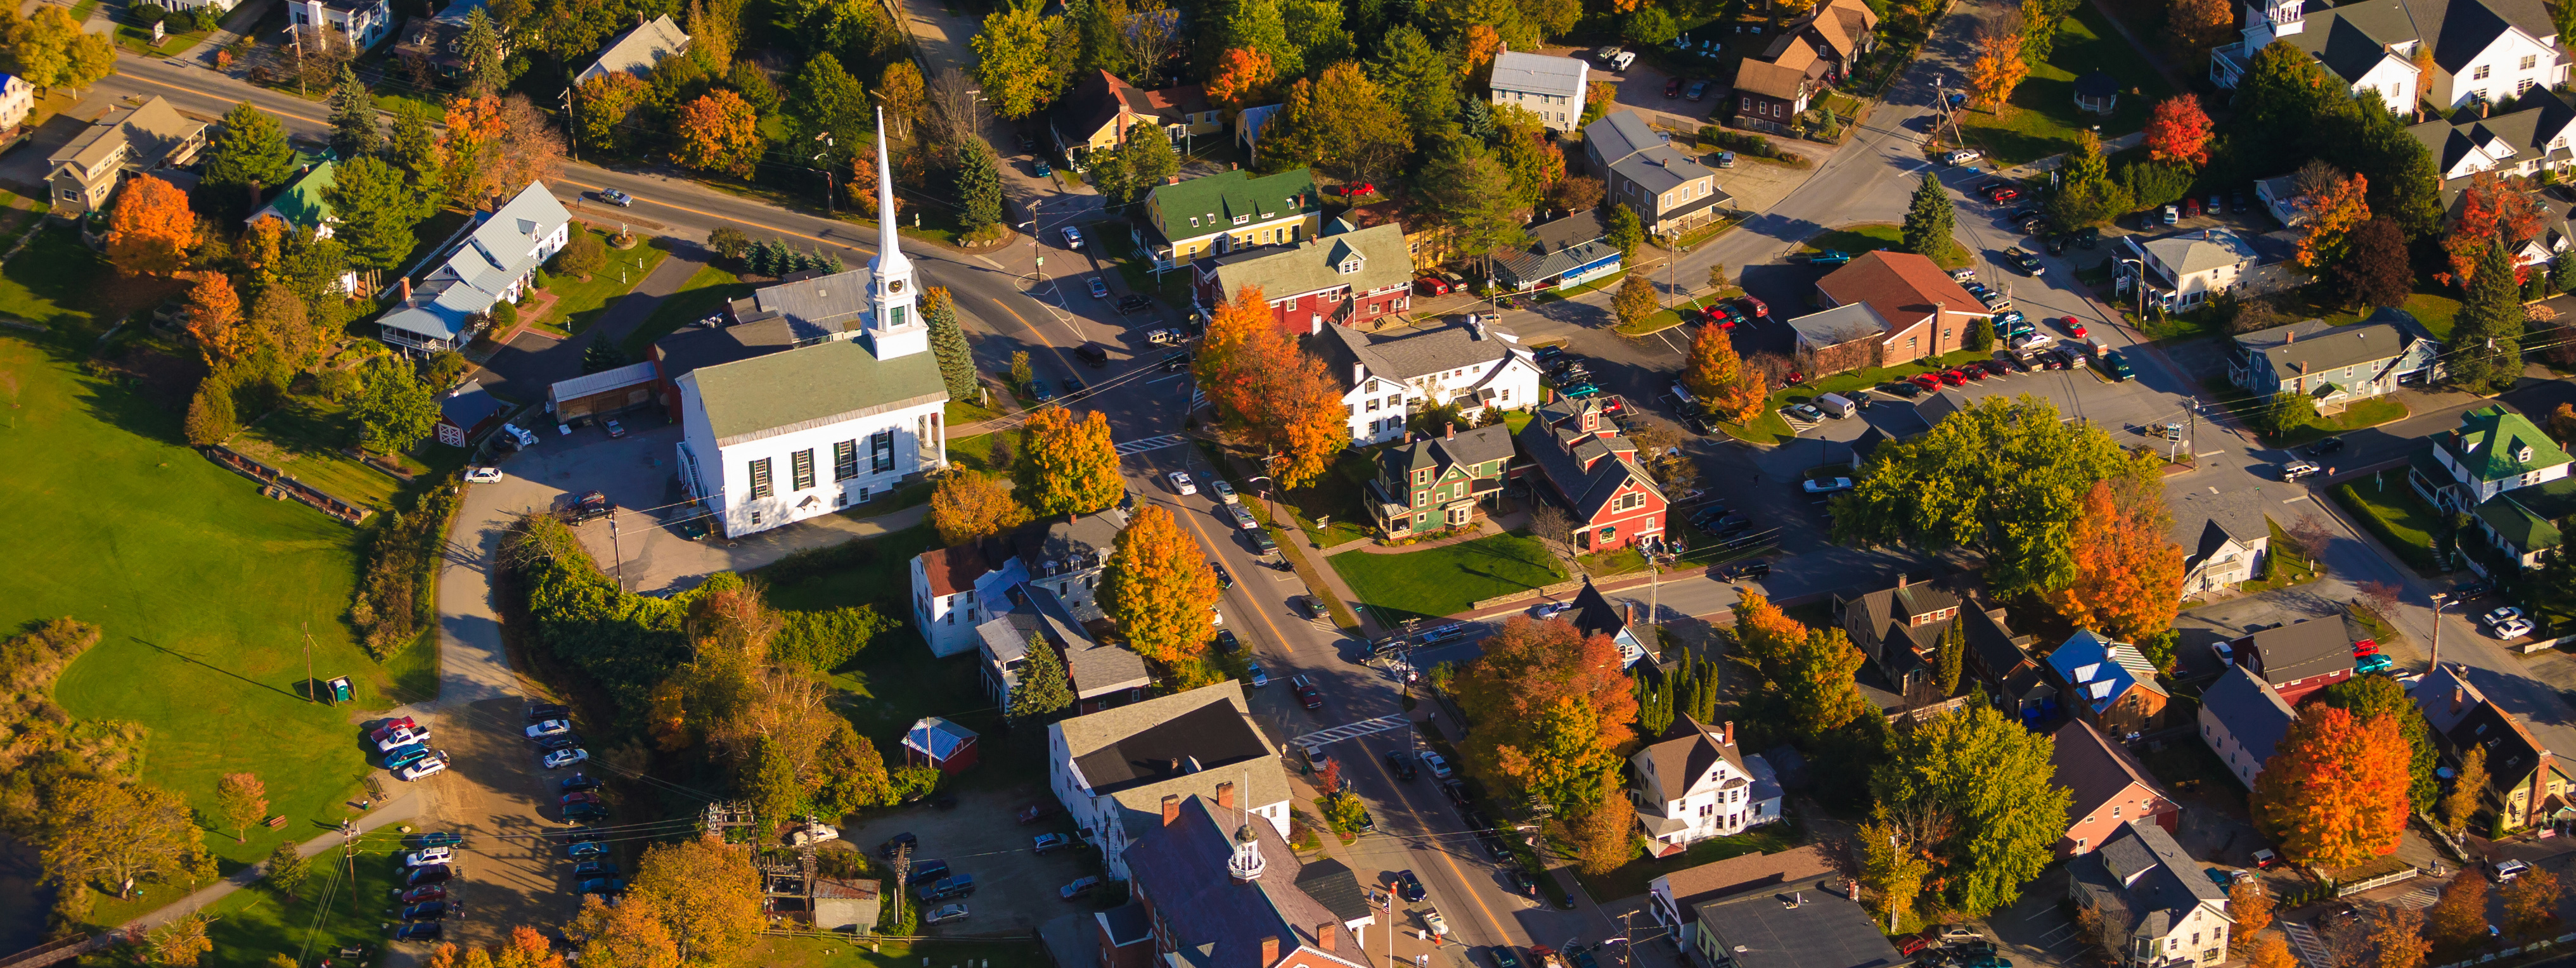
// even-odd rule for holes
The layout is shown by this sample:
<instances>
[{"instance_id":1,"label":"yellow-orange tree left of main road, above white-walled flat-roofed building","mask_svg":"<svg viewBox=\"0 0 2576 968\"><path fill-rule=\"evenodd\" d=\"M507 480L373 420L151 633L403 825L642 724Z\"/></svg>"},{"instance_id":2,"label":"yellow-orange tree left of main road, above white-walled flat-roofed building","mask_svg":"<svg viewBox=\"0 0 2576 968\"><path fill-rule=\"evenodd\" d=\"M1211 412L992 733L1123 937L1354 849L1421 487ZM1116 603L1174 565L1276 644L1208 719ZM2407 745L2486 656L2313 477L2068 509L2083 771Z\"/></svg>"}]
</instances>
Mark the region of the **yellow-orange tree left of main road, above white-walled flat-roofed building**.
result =
<instances>
[{"instance_id":1,"label":"yellow-orange tree left of main road, above white-walled flat-roofed building","mask_svg":"<svg viewBox=\"0 0 2576 968\"><path fill-rule=\"evenodd\" d=\"M1100 572L1100 610L1136 654L1180 664L1206 651L1216 628L1216 572L1170 507L1139 505Z\"/></svg>"}]
</instances>

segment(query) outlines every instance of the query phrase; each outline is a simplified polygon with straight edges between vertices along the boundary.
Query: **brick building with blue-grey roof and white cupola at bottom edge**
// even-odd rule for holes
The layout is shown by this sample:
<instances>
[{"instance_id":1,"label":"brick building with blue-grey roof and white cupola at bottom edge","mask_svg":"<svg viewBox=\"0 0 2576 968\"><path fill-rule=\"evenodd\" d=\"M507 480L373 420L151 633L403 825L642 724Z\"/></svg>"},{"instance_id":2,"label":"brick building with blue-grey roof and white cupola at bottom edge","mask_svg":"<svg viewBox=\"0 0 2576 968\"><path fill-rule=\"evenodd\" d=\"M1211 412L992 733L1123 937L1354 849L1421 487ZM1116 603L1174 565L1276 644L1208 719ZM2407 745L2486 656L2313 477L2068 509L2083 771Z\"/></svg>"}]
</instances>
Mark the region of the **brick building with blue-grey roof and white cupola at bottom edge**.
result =
<instances>
[{"instance_id":1,"label":"brick building with blue-grey roof and white cupola at bottom edge","mask_svg":"<svg viewBox=\"0 0 2576 968\"><path fill-rule=\"evenodd\" d=\"M1262 960L1262 937L1280 937L1280 955L1296 945L1309 958L1365 968L1360 942L1347 932L1337 929L1345 937L1334 942L1334 953L1316 945L1316 927L1340 927L1342 917L1298 888L1303 862L1278 829L1231 814L1188 796L1177 819L1149 826L1126 850L1128 873L1139 893L1151 898L1175 955L1195 968L1273 968ZM1249 883L1226 873L1236 837L1247 834L1262 855L1262 875Z\"/></svg>"}]
</instances>

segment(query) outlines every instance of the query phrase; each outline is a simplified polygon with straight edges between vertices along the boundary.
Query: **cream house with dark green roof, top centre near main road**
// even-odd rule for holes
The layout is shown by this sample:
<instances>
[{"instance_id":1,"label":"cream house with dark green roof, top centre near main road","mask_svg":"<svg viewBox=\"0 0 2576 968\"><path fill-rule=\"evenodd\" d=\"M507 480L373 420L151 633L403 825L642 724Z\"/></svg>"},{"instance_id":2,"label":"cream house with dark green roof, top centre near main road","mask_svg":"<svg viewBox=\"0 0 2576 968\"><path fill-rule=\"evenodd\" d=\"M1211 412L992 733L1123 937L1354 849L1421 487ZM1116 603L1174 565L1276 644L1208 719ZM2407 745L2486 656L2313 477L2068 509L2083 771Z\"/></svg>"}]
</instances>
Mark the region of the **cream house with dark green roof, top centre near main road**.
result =
<instances>
[{"instance_id":1,"label":"cream house with dark green roof, top centre near main road","mask_svg":"<svg viewBox=\"0 0 2576 968\"><path fill-rule=\"evenodd\" d=\"M1231 170L1154 185L1144 196L1144 221L1139 242L1154 252L1154 270L1175 270L1208 252L1311 239L1324 232L1324 196L1303 167Z\"/></svg>"}]
</instances>

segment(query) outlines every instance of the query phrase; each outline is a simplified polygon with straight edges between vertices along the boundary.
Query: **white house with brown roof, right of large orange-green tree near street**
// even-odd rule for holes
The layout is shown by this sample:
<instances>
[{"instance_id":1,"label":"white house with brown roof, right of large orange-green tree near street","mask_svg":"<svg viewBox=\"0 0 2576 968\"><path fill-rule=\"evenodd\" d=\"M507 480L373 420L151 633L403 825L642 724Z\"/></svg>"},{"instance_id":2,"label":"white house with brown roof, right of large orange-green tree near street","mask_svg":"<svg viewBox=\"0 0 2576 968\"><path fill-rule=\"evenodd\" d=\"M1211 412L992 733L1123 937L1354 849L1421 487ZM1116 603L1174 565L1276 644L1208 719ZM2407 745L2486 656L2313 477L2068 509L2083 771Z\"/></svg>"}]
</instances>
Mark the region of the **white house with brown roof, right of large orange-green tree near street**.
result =
<instances>
[{"instance_id":1,"label":"white house with brown roof, right of large orange-green tree near street","mask_svg":"<svg viewBox=\"0 0 2576 968\"><path fill-rule=\"evenodd\" d=\"M1736 723L1677 716L1667 736L1628 757L1636 767L1628 798L1656 857L1780 819L1780 777L1759 754L1736 749Z\"/></svg>"}]
</instances>

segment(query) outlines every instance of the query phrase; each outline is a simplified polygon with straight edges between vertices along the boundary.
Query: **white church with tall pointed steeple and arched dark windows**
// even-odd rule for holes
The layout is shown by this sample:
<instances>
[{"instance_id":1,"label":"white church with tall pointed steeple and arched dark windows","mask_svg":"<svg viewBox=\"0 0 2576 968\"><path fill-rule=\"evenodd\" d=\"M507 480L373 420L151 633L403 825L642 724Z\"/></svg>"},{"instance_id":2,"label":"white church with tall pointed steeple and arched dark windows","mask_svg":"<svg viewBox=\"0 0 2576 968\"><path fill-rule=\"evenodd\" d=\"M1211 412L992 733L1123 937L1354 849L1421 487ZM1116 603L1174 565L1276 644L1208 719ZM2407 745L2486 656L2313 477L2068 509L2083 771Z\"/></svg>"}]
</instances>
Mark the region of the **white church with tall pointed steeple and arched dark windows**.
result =
<instances>
[{"instance_id":1,"label":"white church with tall pointed steeple and arched dark windows","mask_svg":"<svg viewBox=\"0 0 2576 968\"><path fill-rule=\"evenodd\" d=\"M884 118L876 170L891 170ZM894 211L891 178L878 196L878 211ZM858 327L677 381L680 474L726 538L866 505L948 463L948 384L894 221L878 224L866 270L817 283L835 278L866 286Z\"/></svg>"}]
</instances>

